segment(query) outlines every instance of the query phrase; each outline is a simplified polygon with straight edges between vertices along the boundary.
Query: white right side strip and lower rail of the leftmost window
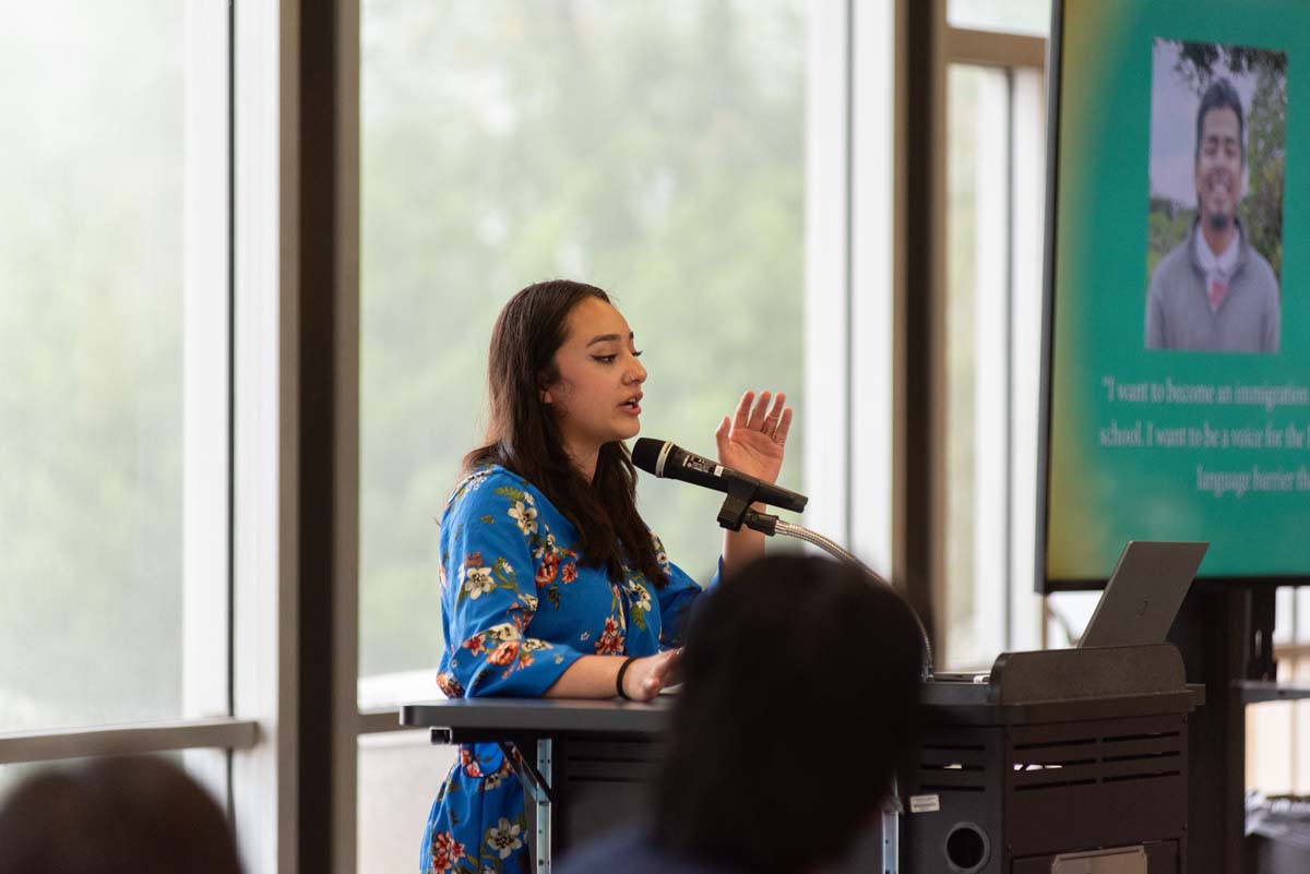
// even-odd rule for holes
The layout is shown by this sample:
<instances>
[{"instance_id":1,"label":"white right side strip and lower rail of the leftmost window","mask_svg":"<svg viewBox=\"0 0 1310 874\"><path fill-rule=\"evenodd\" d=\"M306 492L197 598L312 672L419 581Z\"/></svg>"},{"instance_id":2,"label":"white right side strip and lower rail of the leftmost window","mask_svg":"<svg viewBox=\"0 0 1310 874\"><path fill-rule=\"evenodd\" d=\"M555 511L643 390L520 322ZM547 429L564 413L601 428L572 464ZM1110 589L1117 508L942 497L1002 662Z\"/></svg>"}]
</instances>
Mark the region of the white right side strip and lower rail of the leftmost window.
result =
<instances>
[{"instance_id":1,"label":"white right side strip and lower rail of the leftmost window","mask_svg":"<svg viewBox=\"0 0 1310 874\"><path fill-rule=\"evenodd\" d=\"M254 720L232 713L229 513L231 16L185 13L182 323L182 710L206 716L0 733L0 764L176 750L246 750ZM221 533L221 534L219 534ZM215 619L217 618L217 620ZM195 776L227 794L227 775Z\"/></svg>"}]
</instances>

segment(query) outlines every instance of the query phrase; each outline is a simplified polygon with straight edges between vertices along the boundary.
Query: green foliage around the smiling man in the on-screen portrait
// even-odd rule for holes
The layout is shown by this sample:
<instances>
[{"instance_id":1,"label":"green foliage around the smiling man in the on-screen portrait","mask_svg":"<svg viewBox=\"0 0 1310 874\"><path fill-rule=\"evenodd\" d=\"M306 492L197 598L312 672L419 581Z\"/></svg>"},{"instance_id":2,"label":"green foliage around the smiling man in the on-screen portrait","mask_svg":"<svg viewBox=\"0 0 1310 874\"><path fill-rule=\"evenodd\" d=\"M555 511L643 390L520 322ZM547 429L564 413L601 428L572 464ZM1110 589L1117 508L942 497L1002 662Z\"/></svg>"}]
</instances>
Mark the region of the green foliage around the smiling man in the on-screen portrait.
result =
<instances>
[{"instance_id":1,"label":"green foliage around the smiling man in the on-screen portrait","mask_svg":"<svg viewBox=\"0 0 1310 874\"><path fill-rule=\"evenodd\" d=\"M1244 107L1247 187L1238 217L1251 245L1282 277L1282 175L1286 164L1288 60L1282 52L1212 43L1176 43L1175 72L1197 101L1214 79L1255 75L1255 94ZM1148 221L1146 281L1155 264L1180 243L1196 217L1196 203L1151 198Z\"/></svg>"}]
</instances>

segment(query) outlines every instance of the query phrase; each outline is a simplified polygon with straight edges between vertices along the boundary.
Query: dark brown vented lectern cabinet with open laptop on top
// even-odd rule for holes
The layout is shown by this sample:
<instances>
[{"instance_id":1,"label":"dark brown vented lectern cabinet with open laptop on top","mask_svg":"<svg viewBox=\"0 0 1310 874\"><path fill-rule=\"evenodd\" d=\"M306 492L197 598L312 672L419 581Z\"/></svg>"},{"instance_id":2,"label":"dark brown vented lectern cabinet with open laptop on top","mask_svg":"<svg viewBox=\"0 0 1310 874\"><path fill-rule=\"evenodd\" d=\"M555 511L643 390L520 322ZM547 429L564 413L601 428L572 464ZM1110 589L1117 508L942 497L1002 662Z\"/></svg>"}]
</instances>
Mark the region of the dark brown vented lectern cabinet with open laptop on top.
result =
<instances>
[{"instance_id":1,"label":"dark brown vented lectern cabinet with open laptop on top","mask_svg":"<svg viewBox=\"0 0 1310 874\"><path fill-rule=\"evenodd\" d=\"M1002 653L924 684L901 775L909 874L1183 874L1188 716L1169 644Z\"/></svg>"}]
</instances>

